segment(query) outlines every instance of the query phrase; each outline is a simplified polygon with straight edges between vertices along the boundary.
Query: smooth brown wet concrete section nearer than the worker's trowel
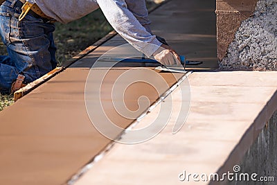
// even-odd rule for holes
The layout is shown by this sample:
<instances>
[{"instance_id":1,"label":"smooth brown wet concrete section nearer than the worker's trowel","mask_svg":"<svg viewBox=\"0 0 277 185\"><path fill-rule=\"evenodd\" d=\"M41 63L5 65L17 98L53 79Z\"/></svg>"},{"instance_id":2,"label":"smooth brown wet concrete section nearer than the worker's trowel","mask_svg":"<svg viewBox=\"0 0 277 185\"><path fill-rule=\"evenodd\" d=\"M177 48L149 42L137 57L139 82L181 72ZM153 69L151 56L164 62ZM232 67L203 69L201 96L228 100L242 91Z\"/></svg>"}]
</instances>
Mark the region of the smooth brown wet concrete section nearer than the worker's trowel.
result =
<instances>
[{"instance_id":1,"label":"smooth brown wet concrete section nearer than the worker's trowel","mask_svg":"<svg viewBox=\"0 0 277 185\"><path fill-rule=\"evenodd\" d=\"M111 142L93 127L87 115L84 85L88 71L80 68L66 69L1 112L2 182L61 184ZM104 109L111 122L123 128L131 124L134 118L129 119L118 114L113 105L117 99L111 101L111 90L113 79L124 71L127 69L109 71L110 76L102 83L102 107L96 109L99 112L93 112L97 116ZM161 76L168 82L168 87L176 82L171 73L162 73ZM97 78L95 82L98 82ZM136 117L159 98L157 91L144 83L129 88L124 96L128 109L139 109L140 96L146 96L150 100L150 103L144 103L144 107L140 107ZM165 87L163 91L167 89ZM93 105L98 102L96 93L93 89L89 91L92 94L91 100L86 103ZM120 133L114 133L114 136L118 134Z\"/></svg>"}]
</instances>

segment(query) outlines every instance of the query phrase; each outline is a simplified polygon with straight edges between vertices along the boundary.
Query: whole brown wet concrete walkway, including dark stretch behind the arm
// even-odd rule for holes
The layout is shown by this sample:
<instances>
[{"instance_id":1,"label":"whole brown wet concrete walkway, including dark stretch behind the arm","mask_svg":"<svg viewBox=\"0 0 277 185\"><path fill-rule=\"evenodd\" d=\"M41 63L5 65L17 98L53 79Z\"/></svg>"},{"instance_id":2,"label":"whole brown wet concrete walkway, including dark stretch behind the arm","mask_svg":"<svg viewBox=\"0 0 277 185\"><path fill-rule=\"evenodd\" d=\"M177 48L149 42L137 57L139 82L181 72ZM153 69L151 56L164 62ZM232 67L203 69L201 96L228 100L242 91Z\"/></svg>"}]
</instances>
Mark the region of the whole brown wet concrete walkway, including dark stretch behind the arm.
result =
<instances>
[{"instance_id":1,"label":"whole brown wet concrete walkway, including dark stretch behind the arm","mask_svg":"<svg viewBox=\"0 0 277 185\"><path fill-rule=\"evenodd\" d=\"M213 1L169 1L151 15L154 33L166 37L188 60L203 60L199 68L217 68L214 10ZM84 87L89 68L96 59L121 43L125 43L123 39L114 37L0 113L1 184L66 184L111 142L89 120ZM107 89L102 91L105 96L102 103L107 105L105 111L121 127L127 127L134 119L124 118L111 107L109 93L113 78L128 70L125 64L109 71L111 80L107 78ZM168 86L184 76L158 74ZM154 86L159 86L159 81ZM129 91L125 98L133 109L138 106L138 96L149 96L150 103L159 98L151 88L142 86L134 91L140 94Z\"/></svg>"}]
</instances>

